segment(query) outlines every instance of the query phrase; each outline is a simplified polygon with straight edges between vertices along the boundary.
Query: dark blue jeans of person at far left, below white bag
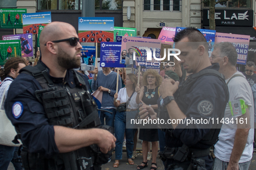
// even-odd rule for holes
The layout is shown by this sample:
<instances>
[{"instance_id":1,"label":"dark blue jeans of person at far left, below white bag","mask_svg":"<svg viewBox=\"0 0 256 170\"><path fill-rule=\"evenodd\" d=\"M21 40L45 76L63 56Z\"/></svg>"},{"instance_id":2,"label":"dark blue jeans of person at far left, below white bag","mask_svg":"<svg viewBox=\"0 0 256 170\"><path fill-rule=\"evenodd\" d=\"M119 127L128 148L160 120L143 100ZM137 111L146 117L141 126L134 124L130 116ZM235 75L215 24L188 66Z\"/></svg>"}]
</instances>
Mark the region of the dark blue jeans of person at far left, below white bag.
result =
<instances>
[{"instance_id":1,"label":"dark blue jeans of person at far left, below white bag","mask_svg":"<svg viewBox=\"0 0 256 170\"><path fill-rule=\"evenodd\" d=\"M7 170L10 162L13 163L15 170L22 170L21 164L15 162L14 159L17 158L15 151L19 147L0 145L0 170Z\"/></svg>"}]
</instances>

